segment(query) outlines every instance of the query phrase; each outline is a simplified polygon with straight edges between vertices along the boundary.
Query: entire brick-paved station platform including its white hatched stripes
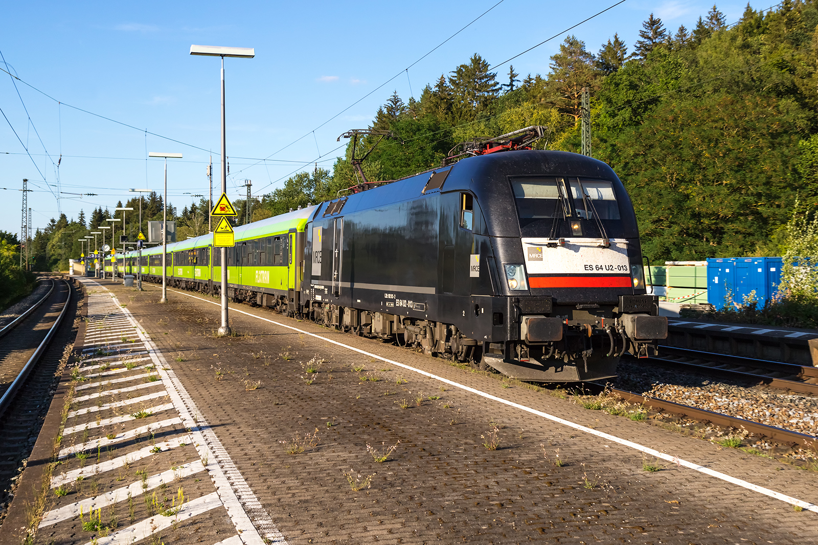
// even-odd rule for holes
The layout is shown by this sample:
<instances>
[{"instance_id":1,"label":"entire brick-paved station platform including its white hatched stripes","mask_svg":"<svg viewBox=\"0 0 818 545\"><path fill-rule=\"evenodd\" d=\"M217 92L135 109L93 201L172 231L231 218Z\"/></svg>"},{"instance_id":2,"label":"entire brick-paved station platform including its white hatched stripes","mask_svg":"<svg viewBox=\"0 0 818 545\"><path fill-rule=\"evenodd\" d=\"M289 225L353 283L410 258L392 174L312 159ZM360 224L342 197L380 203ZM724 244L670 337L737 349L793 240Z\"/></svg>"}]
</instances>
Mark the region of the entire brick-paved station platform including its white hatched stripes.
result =
<instances>
[{"instance_id":1,"label":"entire brick-paved station platform including its white hatched stripes","mask_svg":"<svg viewBox=\"0 0 818 545\"><path fill-rule=\"evenodd\" d=\"M110 536L123 541L98 543L124 543L126 530L208 545L818 541L818 472L262 308L231 305L233 334L217 337L216 298L169 289L160 304L151 284L138 292L81 281L92 319L81 332L86 380L76 386L115 369L124 369L116 375L123 380L74 388L73 410L87 412L66 422L68 462L52 477L68 494L52 496L43 519L50 524L34 543L91 542L70 506L128 486L142 505L142 482L153 486L167 471L169 492L159 497L190 489L187 503L198 506L184 511L191 515L152 531L168 517L128 520L125 495L110 497L102 512L119 509ZM104 358L112 363L100 370ZM154 373L154 381L124 380ZM71 379L66 372L63 382ZM122 388L133 389L85 399ZM55 399L48 418L60 418L64 401ZM124 417L139 410L154 427L134 442L142 423ZM124 461L114 467L149 452L151 430L160 449L127 470ZM88 444L102 445L101 457L94 447L81 467L69 455ZM393 446L383 462L371 453ZM108 447L117 450L109 455ZM646 471L650 465L660 471ZM89 482L80 492L83 471Z\"/></svg>"}]
</instances>

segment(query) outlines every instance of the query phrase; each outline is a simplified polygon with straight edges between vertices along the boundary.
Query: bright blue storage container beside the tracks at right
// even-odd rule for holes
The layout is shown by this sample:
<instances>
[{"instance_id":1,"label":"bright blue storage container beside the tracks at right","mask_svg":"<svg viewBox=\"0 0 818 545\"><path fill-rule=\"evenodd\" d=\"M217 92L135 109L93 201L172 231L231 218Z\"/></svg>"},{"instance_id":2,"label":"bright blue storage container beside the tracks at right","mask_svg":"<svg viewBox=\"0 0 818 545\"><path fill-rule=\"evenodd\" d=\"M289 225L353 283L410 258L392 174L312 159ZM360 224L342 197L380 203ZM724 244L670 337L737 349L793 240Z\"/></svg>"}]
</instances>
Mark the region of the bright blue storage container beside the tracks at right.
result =
<instances>
[{"instance_id":1,"label":"bright blue storage container beside the tracks at right","mask_svg":"<svg viewBox=\"0 0 818 545\"><path fill-rule=\"evenodd\" d=\"M716 257L708 259L708 303L721 309L729 301L744 302L755 290L758 306L775 297L781 280L780 257Z\"/></svg>"}]
</instances>

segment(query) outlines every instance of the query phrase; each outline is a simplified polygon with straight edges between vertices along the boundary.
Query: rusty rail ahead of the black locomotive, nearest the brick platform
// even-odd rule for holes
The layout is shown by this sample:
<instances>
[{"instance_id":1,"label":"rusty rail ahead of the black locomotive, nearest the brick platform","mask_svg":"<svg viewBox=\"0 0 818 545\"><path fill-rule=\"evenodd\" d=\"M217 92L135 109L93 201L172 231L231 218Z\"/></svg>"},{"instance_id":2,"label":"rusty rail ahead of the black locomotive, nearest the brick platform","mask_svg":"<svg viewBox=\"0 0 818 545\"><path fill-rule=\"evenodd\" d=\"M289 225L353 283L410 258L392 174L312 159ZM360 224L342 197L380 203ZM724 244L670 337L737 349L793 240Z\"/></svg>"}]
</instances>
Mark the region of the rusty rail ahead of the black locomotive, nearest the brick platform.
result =
<instances>
[{"instance_id":1,"label":"rusty rail ahead of the black locomotive, nearest the brick platform","mask_svg":"<svg viewBox=\"0 0 818 545\"><path fill-rule=\"evenodd\" d=\"M597 385L599 386L599 385ZM685 416L693 418L700 422L711 422L717 426L743 428L749 431L754 436L766 437L767 439L775 440L782 444L798 444L804 449L818 450L818 437L808 436L798 431L789 431L781 427L768 426L761 422L753 422L744 418L732 417L723 413L714 413L707 409L698 409L690 407L690 405L682 405L672 401L659 400L655 397L648 397L646 395L639 395L632 391L618 390L613 388L609 390L613 395L629 403L645 404L654 409L663 410L667 413L676 414L678 416Z\"/></svg>"}]
</instances>

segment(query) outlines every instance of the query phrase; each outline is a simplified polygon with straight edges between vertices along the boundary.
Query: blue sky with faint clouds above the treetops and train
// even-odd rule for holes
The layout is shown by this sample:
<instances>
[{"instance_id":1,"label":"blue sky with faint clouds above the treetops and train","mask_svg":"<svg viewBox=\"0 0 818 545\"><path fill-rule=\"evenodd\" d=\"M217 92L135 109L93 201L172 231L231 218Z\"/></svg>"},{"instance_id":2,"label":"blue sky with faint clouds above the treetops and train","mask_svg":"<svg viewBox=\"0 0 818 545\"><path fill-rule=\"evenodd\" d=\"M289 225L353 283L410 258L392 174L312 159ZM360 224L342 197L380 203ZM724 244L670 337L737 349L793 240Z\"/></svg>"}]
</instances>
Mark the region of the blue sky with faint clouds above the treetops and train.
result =
<instances>
[{"instance_id":1,"label":"blue sky with faint clouds above the treetops and train","mask_svg":"<svg viewBox=\"0 0 818 545\"><path fill-rule=\"evenodd\" d=\"M20 81L15 88L11 78L0 73L0 108L9 122L0 116L0 187L7 188L0 190L6 204L0 230L20 230L23 178L34 190L29 207L35 229L47 225L59 210L71 218L80 209L88 214L99 205L113 208L118 199L128 198L128 188L161 190L163 163L146 160L150 151L184 155L168 167L169 201L181 210L191 202L191 194L207 194L209 153L203 150L213 150L215 193L219 60L190 56L191 44L255 48L254 59L226 60L227 155L232 158L227 193L232 198L245 193L245 179L252 181L254 194L264 194L291 173L313 168L315 161L330 168L343 154L343 148L335 150L345 142L336 142L339 134L366 127L393 91L404 101L411 94L417 98L426 83L475 52L495 65L615 1L504 0L408 74L329 123L497 0L249 1L240 2L240 9L223 2L10 2L0 36L7 69L64 104ZM718 8L733 23L745 5L726 2ZM675 32L679 25L692 28L711 6L627 0L569 34L596 52L618 33L632 50L649 13ZM565 35L513 60L515 71L547 74L549 57ZM503 79L508 65L497 73ZM146 135L145 130L182 143ZM77 195L86 193L97 195ZM61 196L59 202L55 195Z\"/></svg>"}]
</instances>

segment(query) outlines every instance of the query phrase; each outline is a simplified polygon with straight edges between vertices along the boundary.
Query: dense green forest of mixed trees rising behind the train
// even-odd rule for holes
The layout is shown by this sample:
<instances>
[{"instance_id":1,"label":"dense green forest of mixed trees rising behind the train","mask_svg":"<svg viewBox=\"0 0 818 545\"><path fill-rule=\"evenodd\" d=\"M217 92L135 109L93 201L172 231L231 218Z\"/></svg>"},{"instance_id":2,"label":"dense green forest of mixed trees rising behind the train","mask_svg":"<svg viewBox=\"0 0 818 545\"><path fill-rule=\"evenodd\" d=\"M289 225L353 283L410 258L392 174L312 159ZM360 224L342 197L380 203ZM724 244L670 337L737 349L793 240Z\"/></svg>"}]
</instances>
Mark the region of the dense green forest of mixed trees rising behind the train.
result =
<instances>
[{"instance_id":1,"label":"dense green forest of mixed trees rising behind the train","mask_svg":"<svg viewBox=\"0 0 818 545\"><path fill-rule=\"evenodd\" d=\"M796 201L807 203L798 213L808 216L818 197L816 25L813 1L788 0L771 11L748 5L735 22L713 6L693 29L675 31L651 15L631 47L617 34L596 53L596 44L565 38L546 75L523 76L513 66L491 72L475 53L418 100L393 93L370 127L397 137L381 141L363 168L371 181L393 180L434 168L458 142L528 125L547 127L538 149L579 152L588 87L592 155L630 192L645 255L654 262L782 255ZM359 153L378 138L365 137ZM351 153L348 146L331 171L300 172L250 203L236 200L236 223L247 206L257 221L335 198L357 184ZM135 209L127 212L135 236L138 199L124 206ZM143 223L161 218L160 195L142 206ZM207 232L206 200L170 210L178 239ZM97 208L88 218L52 220L29 245L32 268L65 270L79 256L77 239L111 213Z\"/></svg>"}]
</instances>

